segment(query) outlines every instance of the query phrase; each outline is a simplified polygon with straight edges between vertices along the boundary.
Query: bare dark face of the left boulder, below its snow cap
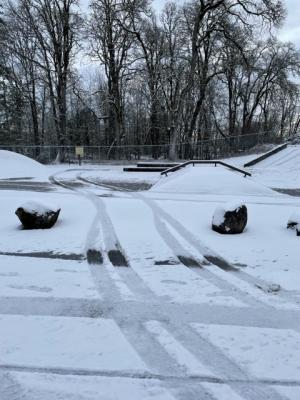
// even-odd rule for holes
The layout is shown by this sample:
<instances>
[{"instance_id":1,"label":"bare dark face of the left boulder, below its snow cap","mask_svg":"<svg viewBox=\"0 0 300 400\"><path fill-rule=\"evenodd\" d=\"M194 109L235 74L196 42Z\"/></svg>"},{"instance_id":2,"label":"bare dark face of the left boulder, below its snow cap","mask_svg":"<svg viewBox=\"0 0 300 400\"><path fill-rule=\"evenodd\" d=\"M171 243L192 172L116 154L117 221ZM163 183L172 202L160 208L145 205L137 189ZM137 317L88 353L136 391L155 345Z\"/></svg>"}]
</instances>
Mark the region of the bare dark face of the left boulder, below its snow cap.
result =
<instances>
[{"instance_id":1,"label":"bare dark face of the left boulder, below its snow cap","mask_svg":"<svg viewBox=\"0 0 300 400\"><path fill-rule=\"evenodd\" d=\"M58 210L44 210L41 213L40 211L19 207L15 213L24 229L49 229L56 223L60 208Z\"/></svg>"}]
</instances>

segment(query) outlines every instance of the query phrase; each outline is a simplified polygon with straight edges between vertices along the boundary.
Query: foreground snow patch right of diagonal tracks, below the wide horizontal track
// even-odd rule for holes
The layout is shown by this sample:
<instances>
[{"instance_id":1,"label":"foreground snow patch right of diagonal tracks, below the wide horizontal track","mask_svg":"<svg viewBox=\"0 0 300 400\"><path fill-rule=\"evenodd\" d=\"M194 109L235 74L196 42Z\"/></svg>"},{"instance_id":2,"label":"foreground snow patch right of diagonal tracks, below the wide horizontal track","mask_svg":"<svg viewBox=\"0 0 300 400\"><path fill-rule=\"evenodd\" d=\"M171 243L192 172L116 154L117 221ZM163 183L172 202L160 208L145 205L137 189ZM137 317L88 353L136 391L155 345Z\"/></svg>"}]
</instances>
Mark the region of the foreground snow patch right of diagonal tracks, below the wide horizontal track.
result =
<instances>
[{"instance_id":1,"label":"foreground snow patch right of diagonal tracks, below the wide horizontal track","mask_svg":"<svg viewBox=\"0 0 300 400\"><path fill-rule=\"evenodd\" d=\"M253 377L300 378L300 334L294 330L199 323L192 327Z\"/></svg>"}]
</instances>

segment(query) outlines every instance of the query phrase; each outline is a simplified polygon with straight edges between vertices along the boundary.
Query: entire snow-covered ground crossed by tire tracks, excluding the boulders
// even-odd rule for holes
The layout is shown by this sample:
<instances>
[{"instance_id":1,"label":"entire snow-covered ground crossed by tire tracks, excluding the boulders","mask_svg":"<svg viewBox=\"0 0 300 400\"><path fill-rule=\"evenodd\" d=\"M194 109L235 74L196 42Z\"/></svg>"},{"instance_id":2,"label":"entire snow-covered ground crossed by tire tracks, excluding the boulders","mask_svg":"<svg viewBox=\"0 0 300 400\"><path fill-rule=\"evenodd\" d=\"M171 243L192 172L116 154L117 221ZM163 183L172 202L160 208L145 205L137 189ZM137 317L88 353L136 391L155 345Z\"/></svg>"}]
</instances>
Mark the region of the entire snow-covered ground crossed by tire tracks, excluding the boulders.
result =
<instances>
[{"instance_id":1,"label":"entire snow-covered ground crossed by tire tracks, excluding the boulders","mask_svg":"<svg viewBox=\"0 0 300 400\"><path fill-rule=\"evenodd\" d=\"M1 152L0 399L298 400L300 238L286 224L300 202L270 189L300 189L299 147L286 151L251 178ZM28 201L58 204L57 224L22 230ZM245 232L213 232L232 201L248 208Z\"/></svg>"}]
</instances>

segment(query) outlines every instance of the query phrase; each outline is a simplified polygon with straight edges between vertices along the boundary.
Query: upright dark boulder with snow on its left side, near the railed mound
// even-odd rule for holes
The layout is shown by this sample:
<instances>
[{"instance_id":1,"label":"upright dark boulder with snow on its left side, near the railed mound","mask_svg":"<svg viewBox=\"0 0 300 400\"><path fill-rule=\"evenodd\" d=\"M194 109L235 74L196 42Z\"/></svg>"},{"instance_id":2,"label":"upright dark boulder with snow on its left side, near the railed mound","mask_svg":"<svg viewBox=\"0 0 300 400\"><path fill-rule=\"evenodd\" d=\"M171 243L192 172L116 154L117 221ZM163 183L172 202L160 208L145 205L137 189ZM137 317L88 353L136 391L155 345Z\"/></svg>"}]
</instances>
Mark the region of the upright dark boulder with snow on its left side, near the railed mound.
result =
<instances>
[{"instance_id":1,"label":"upright dark boulder with snow on its left side, near the railed mound","mask_svg":"<svg viewBox=\"0 0 300 400\"><path fill-rule=\"evenodd\" d=\"M243 203L218 206L214 212L212 229L218 233L242 233L247 225L248 212Z\"/></svg>"}]
</instances>

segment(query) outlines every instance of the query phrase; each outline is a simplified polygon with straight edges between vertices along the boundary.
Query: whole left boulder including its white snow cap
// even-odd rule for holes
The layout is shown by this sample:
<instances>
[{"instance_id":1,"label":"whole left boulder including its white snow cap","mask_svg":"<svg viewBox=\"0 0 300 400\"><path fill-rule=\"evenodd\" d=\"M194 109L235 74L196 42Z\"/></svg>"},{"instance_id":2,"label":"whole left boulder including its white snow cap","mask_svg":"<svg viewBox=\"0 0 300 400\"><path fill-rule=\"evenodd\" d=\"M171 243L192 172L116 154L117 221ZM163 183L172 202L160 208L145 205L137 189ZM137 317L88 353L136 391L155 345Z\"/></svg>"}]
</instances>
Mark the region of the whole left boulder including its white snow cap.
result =
<instances>
[{"instance_id":1,"label":"whole left boulder including its white snow cap","mask_svg":"<svg viewBox=\"0 0 300 400\"><path fill-rule=\"evenodd\" d=\"M56 223L60 208L29 201L22 204L15 213L25 229L49 229Z\"/></svg>"}]
</instances>

